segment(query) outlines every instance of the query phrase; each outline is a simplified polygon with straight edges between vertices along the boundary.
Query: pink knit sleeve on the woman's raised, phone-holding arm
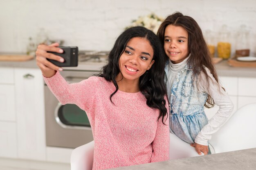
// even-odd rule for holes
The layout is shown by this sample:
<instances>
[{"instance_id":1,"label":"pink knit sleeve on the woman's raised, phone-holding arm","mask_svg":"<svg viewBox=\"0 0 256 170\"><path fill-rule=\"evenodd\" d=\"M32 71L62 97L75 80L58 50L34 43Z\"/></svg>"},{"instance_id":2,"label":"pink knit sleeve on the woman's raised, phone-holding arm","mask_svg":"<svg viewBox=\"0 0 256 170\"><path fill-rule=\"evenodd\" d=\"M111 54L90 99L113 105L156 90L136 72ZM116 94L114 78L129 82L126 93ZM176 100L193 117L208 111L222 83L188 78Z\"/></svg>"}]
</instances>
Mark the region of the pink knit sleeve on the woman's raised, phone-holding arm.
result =
<instances>
[{"instance_id":1,"label":"pink knit sleeve on the woman's raised, phone-holding arm","mask_svg":"<svg viewBox=\"0 0 256 170\"><path fill-rule=\"evenodd\" d=\"M44 77L45 83L62 105L75 104L83 110L87 110L92 105L96 83L94 79L92 77L79 83L69 84L59 72L50 78Z\"/></svg>"}]
</instances>

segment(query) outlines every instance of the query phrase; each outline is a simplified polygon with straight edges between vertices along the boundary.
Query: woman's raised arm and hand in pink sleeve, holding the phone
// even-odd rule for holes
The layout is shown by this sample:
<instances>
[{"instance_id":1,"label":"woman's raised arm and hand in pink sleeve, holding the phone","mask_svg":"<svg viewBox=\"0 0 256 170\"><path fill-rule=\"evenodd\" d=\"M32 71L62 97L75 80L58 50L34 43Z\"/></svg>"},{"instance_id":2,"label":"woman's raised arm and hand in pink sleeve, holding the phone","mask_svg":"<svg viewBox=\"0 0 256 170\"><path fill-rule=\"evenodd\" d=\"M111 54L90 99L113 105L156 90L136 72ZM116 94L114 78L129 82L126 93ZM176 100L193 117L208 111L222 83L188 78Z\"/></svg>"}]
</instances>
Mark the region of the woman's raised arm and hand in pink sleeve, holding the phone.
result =
<instances>
[{"instance_id":1,"label":"woman's raised arm and hand in pink sleeve, holding the phone","mask_svg":"<svg viewBox=\"0 0 256 170\"><path fill-rule=\"evenodd\" d=\"M76 104L81 109L85 110L90 106L90 101L92 96L94 96L94 93L92 93L95 88L94 79L91 78L90 81L87 79L80 83L68 84L58 72L58 70L62 70L62 68L47 60L54 59L61 61L62 58L60 56L47 52L52 51L61 53L63 52L63 50L61 50L61 48L58 48L58 43L54 43L50 46L39 45L36 50L37 65L43 73L47 86L61 104Z\"/></svg>"}]
</instances>

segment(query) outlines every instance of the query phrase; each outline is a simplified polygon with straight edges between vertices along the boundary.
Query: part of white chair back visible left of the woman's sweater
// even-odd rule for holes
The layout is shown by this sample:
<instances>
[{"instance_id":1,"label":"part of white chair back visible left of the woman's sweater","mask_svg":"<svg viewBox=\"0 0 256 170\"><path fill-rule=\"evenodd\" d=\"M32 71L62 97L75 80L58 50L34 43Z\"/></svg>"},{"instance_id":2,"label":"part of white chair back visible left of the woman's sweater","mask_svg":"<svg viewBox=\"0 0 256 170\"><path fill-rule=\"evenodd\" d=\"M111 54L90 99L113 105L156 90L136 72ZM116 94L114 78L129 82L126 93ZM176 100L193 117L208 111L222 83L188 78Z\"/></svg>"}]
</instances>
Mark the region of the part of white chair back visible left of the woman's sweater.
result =
<instances>
[{"instance_id":1,"label":"part of white chair back visible left of the woman's sweater","mask_svg":"<svg viewBox=\"0 0 256 170\"><path fill-rule=\"evenodd\" d=\"M92 170L94 141L79 146L72 151L71 170Z\"/></svg>"}]
</instances>

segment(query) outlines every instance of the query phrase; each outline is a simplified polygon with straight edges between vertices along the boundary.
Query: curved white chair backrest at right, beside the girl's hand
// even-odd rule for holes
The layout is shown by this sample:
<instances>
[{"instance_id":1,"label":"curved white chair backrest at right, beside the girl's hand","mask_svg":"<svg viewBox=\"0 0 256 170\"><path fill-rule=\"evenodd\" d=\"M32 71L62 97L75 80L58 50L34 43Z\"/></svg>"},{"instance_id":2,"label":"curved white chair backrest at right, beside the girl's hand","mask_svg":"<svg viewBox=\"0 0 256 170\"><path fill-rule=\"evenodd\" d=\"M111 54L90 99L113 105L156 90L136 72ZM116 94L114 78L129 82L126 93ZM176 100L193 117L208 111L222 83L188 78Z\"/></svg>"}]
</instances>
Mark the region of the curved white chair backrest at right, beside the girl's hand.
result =
<instances>
[{"instance_id":1,"label":"curved white chair backrest at right, beside the girl's hand","mask_svg":"<svg viewBox=\"0 0 256 170\"><path fill-rule=\"evenodd\" d=\"M256 148L256 103L238 109L209 143L215 153Z\"/></svg>"}]
</instances>

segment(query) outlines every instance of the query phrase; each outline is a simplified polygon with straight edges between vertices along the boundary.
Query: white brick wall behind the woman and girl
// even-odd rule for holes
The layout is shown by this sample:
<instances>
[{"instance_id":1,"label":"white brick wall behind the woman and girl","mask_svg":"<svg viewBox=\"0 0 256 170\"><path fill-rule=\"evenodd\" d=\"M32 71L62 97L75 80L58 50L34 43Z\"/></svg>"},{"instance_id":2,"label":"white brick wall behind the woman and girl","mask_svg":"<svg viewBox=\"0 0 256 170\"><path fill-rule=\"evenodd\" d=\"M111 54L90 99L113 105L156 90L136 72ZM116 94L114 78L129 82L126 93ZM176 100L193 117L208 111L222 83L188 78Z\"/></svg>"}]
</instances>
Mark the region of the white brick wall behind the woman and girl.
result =
<instances>
[{"instance_id":1,"label":"white brick wall behind the woman and girl","mask_svg":"<svg viewBox=\"0 0 256 170\"><path fill-rule=\"evenodd\" d=\"M25 52L28 38L45 28L51 39L81 50L110 50L131 20L151 12L166 17L175 11L193 17L202 31L217 35L222 24L231 32L232 54L241 24L250 31L256 56L255 0L0 0L0 52Z\"/></svg>"}]
</instances>

